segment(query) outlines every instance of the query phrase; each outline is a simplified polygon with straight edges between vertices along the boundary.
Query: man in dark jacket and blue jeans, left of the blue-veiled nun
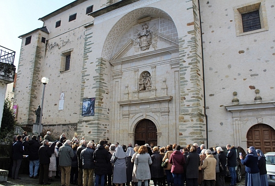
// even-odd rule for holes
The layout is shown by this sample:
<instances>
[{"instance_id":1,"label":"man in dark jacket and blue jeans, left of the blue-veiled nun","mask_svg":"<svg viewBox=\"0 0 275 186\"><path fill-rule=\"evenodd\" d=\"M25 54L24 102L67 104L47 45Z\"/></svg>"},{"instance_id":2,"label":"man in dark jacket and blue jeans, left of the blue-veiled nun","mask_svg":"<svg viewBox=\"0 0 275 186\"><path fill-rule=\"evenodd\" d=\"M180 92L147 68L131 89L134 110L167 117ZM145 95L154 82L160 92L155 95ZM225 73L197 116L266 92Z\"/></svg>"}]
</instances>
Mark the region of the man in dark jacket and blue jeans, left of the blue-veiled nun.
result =
<instances>
[{"instance_id":1,"label":"man in dark jacket and blue jeans, left of the blue-veiled nun","mask_svg":"<svg viewBox=\"0 0 275 186\"><path fill-rule=\"evenodd\" d=\"M236 169L235 167L237 166L237 152L236 148L234 146L231 147L230 144L226 145L227 154L227 167L231 175L231 183L230 185L235 185L237 182L237 176L236 176Z\"/></svg>"}]
</instances>

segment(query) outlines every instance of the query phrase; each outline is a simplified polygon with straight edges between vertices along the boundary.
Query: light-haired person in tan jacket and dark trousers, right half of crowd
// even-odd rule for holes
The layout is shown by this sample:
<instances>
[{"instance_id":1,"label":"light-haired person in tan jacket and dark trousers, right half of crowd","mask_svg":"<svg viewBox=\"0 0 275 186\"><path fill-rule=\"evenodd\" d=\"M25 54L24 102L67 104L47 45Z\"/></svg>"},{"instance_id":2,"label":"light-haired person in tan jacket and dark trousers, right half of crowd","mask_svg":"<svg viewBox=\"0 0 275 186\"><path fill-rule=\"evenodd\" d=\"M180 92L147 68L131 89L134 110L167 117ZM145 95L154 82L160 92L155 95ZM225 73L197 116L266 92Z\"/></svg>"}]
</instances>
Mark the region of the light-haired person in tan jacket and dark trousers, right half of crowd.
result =
<instances>
[{"instance_id":1,"label":"light-haired person in tan jacket and dark trousers, right half of crowd","mask_svg":"<svg viewBox=\"0 0 275 186\"><path fill-rule=\"evenodd\" d=\"M203 179L206 185L215 186L216 182L216 163L217 160L211 154L211 150L206 150L207 157L204 159L202 169L204 170Z\"/></svg>"}]
</instances>

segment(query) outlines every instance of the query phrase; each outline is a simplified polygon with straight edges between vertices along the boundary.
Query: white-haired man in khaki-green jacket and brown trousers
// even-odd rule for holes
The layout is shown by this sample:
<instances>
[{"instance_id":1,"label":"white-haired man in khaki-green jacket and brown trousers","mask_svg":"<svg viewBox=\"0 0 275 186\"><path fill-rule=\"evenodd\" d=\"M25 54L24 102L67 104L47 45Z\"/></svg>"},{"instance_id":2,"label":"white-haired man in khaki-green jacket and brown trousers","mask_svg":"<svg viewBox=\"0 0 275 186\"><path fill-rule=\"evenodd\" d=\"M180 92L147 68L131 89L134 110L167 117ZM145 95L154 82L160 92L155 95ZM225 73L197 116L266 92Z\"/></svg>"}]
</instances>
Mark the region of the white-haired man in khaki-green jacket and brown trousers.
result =
<instances>
[{"instance_id":1,"label":"white-haired man in khaki-green jacket and brown trousers","mask_svg":"<svg viewBox=\"0 0 275 186\"><path fill-rule=\"evenodd\" d=\"M61 170L61 184L69 186L71 176L72 159L74 151L71 147L71 141L68 139L62 147L59 148L59 167Z\"/></svg>"}]
</instances>

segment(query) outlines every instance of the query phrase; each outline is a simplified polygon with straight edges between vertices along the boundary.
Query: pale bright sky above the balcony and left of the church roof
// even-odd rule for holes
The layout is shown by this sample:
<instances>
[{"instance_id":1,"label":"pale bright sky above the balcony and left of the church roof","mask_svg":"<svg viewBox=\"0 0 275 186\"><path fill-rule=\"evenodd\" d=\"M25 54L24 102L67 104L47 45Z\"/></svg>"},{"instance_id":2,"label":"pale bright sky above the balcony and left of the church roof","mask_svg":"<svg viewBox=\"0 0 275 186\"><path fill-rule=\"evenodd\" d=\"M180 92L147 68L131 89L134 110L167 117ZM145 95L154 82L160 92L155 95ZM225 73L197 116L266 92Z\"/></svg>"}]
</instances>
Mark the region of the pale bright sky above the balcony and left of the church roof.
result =
<instances>
[{"instance_id":1,"label":"pale bright sky above the balcony and left of the church roof","mask_svg":"<svg viewBox=\"0 0 275 186\"><path fill-rule=\"evenodd\" d=\"M21 48L18 36L43 27L40 17L74 2L75 0L1 0L0 45L15 51L16 72Z\"/></svg>"}]
</instances>

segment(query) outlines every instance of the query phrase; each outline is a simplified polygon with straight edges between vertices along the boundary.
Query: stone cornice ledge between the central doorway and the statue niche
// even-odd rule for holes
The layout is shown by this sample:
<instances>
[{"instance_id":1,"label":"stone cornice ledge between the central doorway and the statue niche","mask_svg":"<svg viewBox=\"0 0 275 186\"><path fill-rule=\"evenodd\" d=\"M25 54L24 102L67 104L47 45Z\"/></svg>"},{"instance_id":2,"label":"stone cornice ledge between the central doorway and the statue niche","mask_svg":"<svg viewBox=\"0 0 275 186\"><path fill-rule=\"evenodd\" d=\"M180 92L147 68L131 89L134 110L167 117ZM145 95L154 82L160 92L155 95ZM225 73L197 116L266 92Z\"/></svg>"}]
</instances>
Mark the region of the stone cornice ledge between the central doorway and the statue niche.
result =
<instances>
[{"instance_id":1,"label":"stone cornice ledge between the central doorway and the statue niche","mask_svg":"<svg viewBox=\"0 0 275 186\"><path fill-rule=\"evenodd\" d=\"M155 97L155 98L145 98L145 99L136 99L136 100L126 100L126 101L118 101L121 106L129 106L133 104L144 104L144 103L164 103L169 102L172 100L172 96L162 96L162 97Z\"/></svg>"}]
</instances>

